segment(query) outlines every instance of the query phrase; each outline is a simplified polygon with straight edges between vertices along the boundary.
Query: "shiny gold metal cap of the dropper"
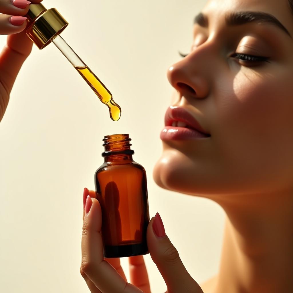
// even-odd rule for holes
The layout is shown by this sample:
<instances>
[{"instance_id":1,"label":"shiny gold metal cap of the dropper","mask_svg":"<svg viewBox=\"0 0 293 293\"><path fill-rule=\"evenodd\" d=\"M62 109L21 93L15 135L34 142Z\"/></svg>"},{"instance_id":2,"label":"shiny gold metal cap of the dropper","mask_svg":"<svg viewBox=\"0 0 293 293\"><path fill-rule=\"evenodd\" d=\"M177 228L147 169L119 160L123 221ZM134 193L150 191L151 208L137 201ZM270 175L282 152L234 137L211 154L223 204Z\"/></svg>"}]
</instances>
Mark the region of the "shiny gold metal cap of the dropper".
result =
<instances>
[{"instance_id":1,"label":"shiny gold metal cap of the dropper","mask_svg":"<svg viewBox=\"0 0 293 293\"><path fill-rule=\"evenodd\" d=\"M50 44L52 38L61 33L68 22L55 8L46 9L42 4L30 4L26 34L41 50Z\"/></svg>"}]
</instances>

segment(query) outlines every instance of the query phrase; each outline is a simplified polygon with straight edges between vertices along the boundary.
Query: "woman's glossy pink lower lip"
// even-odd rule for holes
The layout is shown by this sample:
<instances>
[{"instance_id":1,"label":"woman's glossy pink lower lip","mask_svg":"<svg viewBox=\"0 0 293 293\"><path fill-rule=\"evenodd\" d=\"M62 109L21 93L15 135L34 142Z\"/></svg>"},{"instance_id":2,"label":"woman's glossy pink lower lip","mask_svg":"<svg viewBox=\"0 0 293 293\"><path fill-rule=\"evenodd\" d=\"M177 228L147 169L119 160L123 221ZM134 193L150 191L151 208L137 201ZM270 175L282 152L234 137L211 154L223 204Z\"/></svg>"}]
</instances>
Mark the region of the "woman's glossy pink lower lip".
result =
<instances>
[{"instance_id":1,"label":"woman's glossy pink lower lip","mask_svg":"<svg viewBox=\"0 0 293 293\"><path fill-rule=\"evenodd\" d=\"M160 135L162 140L186 140L186 139L205 139L210 138L194 129L185 127L166 126Z\"/></svg>"}]
</instances>

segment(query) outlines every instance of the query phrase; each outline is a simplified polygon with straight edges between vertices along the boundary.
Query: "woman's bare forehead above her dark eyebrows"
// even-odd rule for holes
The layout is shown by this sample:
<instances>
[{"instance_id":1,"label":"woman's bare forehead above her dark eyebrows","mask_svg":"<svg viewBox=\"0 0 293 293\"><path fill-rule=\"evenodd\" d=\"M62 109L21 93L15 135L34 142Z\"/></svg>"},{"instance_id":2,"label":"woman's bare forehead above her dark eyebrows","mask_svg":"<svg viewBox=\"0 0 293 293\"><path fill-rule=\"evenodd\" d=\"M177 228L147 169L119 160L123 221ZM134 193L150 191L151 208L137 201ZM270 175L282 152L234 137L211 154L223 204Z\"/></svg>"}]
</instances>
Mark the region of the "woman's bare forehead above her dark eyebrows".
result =
<instances>
[{"instance_id":1,"label":"woman's bare forehead above her dark eyebrows","mask_svg":"<svg viewBox=\"0 0 293 293\"><path fill-rule=\"evenodd\" d=\"M220 21L227 13L236 11L261 11L275 16L293 33L293 13L288 0L209 0L202 10L209 21Z\"/></svg>"}]
</instances>

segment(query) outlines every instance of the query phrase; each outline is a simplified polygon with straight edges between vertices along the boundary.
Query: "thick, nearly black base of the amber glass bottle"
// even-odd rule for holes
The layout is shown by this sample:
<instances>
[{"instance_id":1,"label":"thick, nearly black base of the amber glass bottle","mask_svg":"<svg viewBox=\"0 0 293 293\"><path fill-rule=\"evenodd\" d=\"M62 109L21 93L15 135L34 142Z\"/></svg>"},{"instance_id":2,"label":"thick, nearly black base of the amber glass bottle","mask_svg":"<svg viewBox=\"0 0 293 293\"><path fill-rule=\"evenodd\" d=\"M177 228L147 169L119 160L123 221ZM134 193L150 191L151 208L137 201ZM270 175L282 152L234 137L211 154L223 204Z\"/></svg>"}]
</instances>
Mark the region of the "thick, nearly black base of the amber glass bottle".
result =
<instances>
[{"instance_id":1,"label":"thick, nearly black base of the amber glass bottle","mask_svg":"<svg viewBox=\"0 0 293 293\"><path fill-rule=\"evenodd\" d=\"M148 253L149 251L148 251L146 243L104 246L105 258L127 257L127 256L143 255Z\"/></svg>"}]
</instances>

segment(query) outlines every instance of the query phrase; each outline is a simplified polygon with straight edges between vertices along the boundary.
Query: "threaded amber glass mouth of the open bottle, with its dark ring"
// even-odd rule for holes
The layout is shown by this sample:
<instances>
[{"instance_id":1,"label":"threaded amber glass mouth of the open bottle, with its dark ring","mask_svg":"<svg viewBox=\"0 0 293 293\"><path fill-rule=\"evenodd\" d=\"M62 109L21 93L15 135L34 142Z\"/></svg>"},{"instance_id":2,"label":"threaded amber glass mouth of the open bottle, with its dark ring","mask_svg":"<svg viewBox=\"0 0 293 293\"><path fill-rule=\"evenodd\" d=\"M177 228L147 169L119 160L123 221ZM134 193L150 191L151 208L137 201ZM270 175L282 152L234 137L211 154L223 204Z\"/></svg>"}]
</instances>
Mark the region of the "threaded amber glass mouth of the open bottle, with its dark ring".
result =
<instances>
[{"instance_id":1,"label":"threaded amber glass mouth of the open bottle, with its dark ring","mask_svg":"<svg viewBox=\"0 0 293 293\"><path fill-rule=\"evenodd\" d=\"M131 138L129 138L129 134L112 134L104 136L103 147L105 147L105 151L102 153L102 156L134 154L134 151L130 149L130 146L132 145L130 141Z\"/></svg>"}]
</instances>

